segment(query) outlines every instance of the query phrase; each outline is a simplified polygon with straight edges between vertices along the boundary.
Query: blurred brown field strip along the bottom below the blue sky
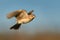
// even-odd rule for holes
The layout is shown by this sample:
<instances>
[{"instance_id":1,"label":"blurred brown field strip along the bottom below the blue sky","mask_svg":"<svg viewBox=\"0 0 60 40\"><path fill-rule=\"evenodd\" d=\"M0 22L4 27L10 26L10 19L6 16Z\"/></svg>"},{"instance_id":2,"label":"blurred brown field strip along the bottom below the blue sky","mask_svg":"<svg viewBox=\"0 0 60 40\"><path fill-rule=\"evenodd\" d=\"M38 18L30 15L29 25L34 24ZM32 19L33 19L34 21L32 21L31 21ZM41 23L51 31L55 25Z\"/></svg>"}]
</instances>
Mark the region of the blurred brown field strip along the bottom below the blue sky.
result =
<instances>
[{"instance_id":1,"label":"blurred brown field strip along the bottom below the blue sky","mask_svg":"<svg viewBox=\"0 0 60 40\"><path fill-rule=\"evenodd\" d=\"M27 33L0 33L0 40L60 40L60 33L37 32L35 34Z\"/></svg>"}]
</instances>

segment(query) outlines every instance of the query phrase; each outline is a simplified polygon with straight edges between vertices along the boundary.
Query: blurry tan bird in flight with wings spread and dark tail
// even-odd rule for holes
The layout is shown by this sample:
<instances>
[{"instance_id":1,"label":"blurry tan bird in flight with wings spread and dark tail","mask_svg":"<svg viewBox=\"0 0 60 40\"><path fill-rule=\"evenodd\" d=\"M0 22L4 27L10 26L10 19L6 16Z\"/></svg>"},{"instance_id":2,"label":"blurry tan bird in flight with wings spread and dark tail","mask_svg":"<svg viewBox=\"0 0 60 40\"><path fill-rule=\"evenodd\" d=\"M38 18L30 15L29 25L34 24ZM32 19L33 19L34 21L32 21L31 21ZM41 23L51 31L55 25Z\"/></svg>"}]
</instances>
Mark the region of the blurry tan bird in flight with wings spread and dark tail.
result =
<instances>
[{"instance_id":1,"label":"blurry tan bird in flight with wings spread and dark tail","mask_svg":"<svg viewBox=\"0 0 60 40\"><path fill-rule=\"evenodd\" d=\"M7 14L7 18L11 19L16 18L16 24L10 27L10 29L17 30L21 27L22 24L27 24L31 22L36 16L33 14L34 10L27 12L26 10L16 10Z\"/></svg>"}]
</instances>

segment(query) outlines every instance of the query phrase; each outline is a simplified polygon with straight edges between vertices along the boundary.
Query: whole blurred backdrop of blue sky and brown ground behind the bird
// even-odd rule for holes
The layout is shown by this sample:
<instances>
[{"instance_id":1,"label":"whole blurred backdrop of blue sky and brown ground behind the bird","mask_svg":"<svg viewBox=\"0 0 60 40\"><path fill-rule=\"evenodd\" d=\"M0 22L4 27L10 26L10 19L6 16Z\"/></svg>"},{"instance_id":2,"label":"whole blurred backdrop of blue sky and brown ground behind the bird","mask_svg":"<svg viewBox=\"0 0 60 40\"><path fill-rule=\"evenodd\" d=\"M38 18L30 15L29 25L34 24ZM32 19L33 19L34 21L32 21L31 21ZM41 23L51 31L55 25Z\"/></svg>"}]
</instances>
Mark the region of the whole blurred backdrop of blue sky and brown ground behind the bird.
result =
<instances>
[{"instance_id":1,"label":"whole blurred backdrop of blue sky and brown ground behind the bird","mask_svg":"<svg viewBox=\"0 0 60 40\"><path fill-rule=\"evenodd\" d=\"M19 9L34 10L36 18L19 30L10 30L16 20L6 15ZM59 10L60 0L0 0L0 40L59 40Z\"/></svg>"}]
</instances>

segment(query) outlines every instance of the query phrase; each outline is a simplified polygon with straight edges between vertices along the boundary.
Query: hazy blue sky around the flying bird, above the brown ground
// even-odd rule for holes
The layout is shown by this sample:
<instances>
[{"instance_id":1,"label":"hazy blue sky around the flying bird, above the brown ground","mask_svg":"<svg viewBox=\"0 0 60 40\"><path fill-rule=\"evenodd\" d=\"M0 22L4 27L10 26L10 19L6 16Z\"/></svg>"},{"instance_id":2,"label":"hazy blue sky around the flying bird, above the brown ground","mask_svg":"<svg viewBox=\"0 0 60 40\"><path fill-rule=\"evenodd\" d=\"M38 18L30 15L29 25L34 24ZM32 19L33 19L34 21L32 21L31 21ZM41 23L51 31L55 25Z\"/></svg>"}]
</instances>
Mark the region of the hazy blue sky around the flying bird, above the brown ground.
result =
<instances>
[{"instance_id":1,"label":"hazy blue sky around the flying bird, above the brown ground","mask_svg":"<svg viewBox=\"0 0 60 40\"><path fill-rule=\"evenodd\" d=\"M6 14L19 9L34 10L36 15L32 22L22 24L20 30L60 32L60 0L0 0L0 32L9 31L15 24L15 18L9 20Z\"/></svg>"}]
</instances>

